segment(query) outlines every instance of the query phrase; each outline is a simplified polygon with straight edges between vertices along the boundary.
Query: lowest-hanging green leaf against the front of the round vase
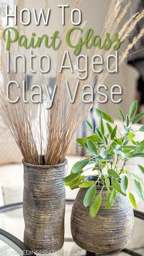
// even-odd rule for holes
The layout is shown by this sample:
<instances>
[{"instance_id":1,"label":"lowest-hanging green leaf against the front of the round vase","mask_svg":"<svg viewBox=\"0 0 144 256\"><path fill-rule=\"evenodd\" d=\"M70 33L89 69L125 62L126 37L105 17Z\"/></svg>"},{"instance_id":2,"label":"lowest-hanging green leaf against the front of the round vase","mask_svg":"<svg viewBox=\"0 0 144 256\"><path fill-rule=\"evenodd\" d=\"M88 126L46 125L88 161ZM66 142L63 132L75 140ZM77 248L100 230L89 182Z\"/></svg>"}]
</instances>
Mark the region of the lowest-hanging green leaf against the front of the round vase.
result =
<instances>
[{"instance_id":1,"label":"lowest-hanging green leaf against the front of the round vase","mask_svg":"<svg viewBox=\"0 0 144 256\"><path fill-rule=\"evenodd\" d=\"M99 208L101 207L101 202L102 202L101 195L95 196L95 199L93 199L93 202L90 205L90 211L89 211L90 219L95 218Z\"/></svg>"}]
</instances>

